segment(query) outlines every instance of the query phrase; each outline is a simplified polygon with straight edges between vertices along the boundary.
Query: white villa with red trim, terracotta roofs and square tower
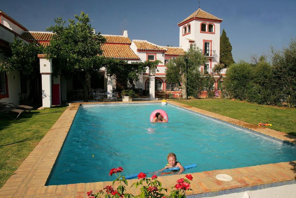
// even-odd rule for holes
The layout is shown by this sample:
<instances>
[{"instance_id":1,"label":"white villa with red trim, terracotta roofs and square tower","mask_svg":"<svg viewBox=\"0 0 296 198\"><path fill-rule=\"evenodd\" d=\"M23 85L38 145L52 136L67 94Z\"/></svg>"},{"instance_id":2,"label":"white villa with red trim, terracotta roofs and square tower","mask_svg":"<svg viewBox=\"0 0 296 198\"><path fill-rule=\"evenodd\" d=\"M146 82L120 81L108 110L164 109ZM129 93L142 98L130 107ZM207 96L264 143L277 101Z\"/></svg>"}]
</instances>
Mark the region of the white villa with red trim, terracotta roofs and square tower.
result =
<instances>
[{"instance_id":1,"label":"white villa with red trim, terracotta roofs and square tower","mask_svg":"<svg viewBox=\"0 0 296 198\"><path fill-rule=\"evenodd\" d=\"M159 46L148 42L147 40L130 40L127 31L123 35L102 34L107 42L102 45L105 57L117 58L128 61L155 61L160 60L163 64L157 66L155 73L150 73L147 69L140 76L140 80L135 82L136 88L141 93L146 93L151 99L157 97L158 92L172 93L173 97L180 97L181 90L178 83L166 82L166 64L171 58L184 54L192 44L203 50L208 57L207 64L201 66L202 74L213 74L213 91L220 90L218 74L213 73L212 69L219 62L220 56L220 23L223 19L217 18L198 9L189 17L178 23L179 26L179 47ZM9 48L9 43L13 38L23 39L25 42L36 40L40 45L46 47L50 44L51 32L28 31L24 26L0 11L0 60L5 61L3 49ZM61 104L61 101L70 100L69 93L73 89L81 88L75 77L66 79L62 74L58 77L52 77L52 62L46 60L44 56L40 58L40 77L33 85L33 89L38 95L36 100L43 101L44 107L50 107L54 104ZM91 77L89 88L102 88L107 91L114 91L118 86L116 76L107 75L105 69L98 76ZM225 75L225 69L221 72ZM31 85L32 86L32 85ZM13 102L19 104L20 95L23 98L28 96L29 85L27 79L20 76L20 72L15 71L11 74L0 72L0 102ZM203 93L204 94L204 93Z\"/></svg>"}]
</instances>

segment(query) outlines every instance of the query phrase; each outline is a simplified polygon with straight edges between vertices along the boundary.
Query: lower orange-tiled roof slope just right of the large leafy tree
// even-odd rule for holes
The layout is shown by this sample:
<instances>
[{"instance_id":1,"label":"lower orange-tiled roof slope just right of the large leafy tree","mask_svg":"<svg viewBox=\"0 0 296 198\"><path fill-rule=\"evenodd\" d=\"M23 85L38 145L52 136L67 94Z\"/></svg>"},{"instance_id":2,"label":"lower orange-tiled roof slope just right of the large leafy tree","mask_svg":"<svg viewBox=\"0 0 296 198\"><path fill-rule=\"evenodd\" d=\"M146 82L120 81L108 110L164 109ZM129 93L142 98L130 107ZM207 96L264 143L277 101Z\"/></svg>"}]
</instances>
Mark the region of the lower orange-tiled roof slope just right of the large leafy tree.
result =
<instances>
[{"instance_id":1,"label":"lower orange-tiled roof slope just right of the large leafy tree","mask_svg":"<svg viewBox=\"0 0 296 198\"><path fill-rule=\"evenodd\" d=\"M102 49L104 50L103 56L109 58L123 58L123 59L139 59L130 45L122 45L122 44L108 44L105 43L102 45Z\"/></svg>"}]
</instances>

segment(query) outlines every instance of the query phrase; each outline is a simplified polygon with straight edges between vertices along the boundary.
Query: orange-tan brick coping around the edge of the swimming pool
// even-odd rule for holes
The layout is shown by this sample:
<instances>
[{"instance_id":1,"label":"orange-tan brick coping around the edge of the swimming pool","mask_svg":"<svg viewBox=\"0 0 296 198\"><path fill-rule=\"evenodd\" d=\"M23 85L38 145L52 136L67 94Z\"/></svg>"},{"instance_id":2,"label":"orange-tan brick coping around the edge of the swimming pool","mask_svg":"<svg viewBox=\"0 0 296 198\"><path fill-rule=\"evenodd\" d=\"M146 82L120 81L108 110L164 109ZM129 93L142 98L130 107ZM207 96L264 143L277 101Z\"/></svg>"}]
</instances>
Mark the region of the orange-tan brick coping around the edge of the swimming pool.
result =
<instances>
[{"instance_id":1,"label":"orange-tan brick coping around the edge of the swimming pool","mask_svg":"<svg viewBox=\"0 0 296 198\"><path fill-rule=\"evenodd\" d=\"M160 101L149 101L160 102ZM97 192L106 185L112 185L112 182L95 182L95 183L77 183L68 185L44 186L57 159L62 144L67 136L67 132L73 122L75 114L80 104L110 104L110 103L130 103L130 102L92 102L92 103L75 103L65 110L57 122L46 133L44 138L38 143L29 156L22 162L20 167L7 180L0 189L0 198L5 197L86 197L86 191L94 190ZM147 101L138 101L132 103L147 103ZM254 124L239 121L233 118L222 116L206 110L201 110L189 105L181 104L175 101L168 103L177 105L188 110L201 113L222 121L226 121L256 132L275 137L279 140L296 144L296 137L272 129L259 127ZM233 180L220 181L215 178L217 174L231 175ZM191 173L194 177L191 182L193 191L188 195L218 195L223 192L228 194L228 189L237 189L238 191L256 190L273 186L280 186L295 183L296 179L296 161L281 162L275 164L263 164L251 167L242 167L225 170L212 170L204 172ZM183 175L170 175L159 177L163 187L168 188L176 184L176 180L184 178ZM129 180L129 184L137 181ZM270 185L269 185L270 184ZM272 185L273 184L273 185ZM233 193L229 190L229 193ZM136 194L138 189L128 189L128 192ZM212 194L210 194L212 193ZM215 194L216 193L216 194ZM198 196L198 195L197 195ZM191 196L190 196L191 197Z\"/></svg>"}]
</instances>

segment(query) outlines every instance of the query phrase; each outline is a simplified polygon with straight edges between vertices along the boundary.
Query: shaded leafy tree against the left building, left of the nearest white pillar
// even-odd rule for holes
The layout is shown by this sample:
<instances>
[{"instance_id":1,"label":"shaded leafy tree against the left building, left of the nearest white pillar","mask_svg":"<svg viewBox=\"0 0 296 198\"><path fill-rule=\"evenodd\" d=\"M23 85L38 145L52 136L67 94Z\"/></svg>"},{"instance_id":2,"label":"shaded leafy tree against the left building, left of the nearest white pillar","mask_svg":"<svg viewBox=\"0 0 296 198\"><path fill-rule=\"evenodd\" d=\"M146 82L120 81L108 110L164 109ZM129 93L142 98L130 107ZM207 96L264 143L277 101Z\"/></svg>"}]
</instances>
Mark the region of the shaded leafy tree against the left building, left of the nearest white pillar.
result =
<instances>
[{"instance_id":1,"label":"shaded leafy tree against the left building, left of the nearest white pillar","mask_svg":"<svg viewBox=\"0 0 296 198\"><path fill-rule=\"evenodd\" d=\"M9 45L10 49L6 50L4 55L7 57L7 61L0 62L0 71L7 72L8 74L14 71L20 71L20 75L29 80L30 94L27 99L34 98L34 83L40 75L38 53L43 53L44 48L38 46L36 42L25 43L22 39L13 39L13 42Z\"/></svg>"}]
</instances>

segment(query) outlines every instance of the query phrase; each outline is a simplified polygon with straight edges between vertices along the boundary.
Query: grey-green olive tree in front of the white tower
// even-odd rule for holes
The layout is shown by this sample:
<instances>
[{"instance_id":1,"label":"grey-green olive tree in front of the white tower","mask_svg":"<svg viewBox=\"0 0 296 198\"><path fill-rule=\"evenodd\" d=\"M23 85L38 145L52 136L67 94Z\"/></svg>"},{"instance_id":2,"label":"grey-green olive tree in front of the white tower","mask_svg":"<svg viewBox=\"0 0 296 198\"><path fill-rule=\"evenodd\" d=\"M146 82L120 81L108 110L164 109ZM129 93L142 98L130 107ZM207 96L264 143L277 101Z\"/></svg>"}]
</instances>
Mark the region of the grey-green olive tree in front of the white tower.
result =
<instances>
[{"instance_id":1,"label":"grey-green olive tree in front of the white tower","mask_svg":"<svg viewBox=\"0 0 296 198\"><path fill-rule=\"evenodd\" d=\"M188 58L188 82L186 82L186 60ZM193 45L184 55L171 59L166 69L166 78L168 83L181 82L182 96L197 97L202 90L202 79L200 77L200 66L205 65L207 58L202 50ZM186 92L188 91L188 93Z\"/></svg>"}]
</instances>

